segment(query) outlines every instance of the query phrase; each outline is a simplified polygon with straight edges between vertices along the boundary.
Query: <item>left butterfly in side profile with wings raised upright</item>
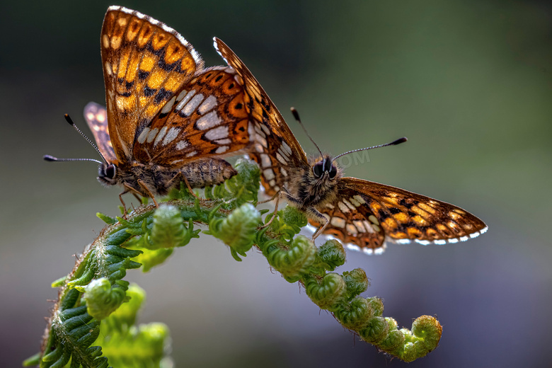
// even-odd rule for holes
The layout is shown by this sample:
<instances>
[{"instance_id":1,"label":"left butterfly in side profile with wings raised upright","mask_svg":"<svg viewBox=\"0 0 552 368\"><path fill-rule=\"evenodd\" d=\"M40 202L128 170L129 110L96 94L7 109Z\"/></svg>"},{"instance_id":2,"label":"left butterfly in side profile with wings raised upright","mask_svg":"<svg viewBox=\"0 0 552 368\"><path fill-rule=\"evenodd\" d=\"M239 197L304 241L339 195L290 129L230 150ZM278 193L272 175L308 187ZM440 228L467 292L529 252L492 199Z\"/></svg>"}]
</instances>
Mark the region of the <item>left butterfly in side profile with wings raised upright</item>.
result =
<instances>
[{"instance_id":1,"label":"left butterfly in side profile with wings raised upright","mask_svg":"<svg viewBox=\"0 0 552 368\"><path fill-rule=\"evenodd\" d=\"M223 158L251 142L234 69L204 69L175 30L122 6L105 13L100 47L107 109L84 110L104 159L100 183L153 198L181 181L203 188L236 174Z\"/></svg>"}]
</instances>

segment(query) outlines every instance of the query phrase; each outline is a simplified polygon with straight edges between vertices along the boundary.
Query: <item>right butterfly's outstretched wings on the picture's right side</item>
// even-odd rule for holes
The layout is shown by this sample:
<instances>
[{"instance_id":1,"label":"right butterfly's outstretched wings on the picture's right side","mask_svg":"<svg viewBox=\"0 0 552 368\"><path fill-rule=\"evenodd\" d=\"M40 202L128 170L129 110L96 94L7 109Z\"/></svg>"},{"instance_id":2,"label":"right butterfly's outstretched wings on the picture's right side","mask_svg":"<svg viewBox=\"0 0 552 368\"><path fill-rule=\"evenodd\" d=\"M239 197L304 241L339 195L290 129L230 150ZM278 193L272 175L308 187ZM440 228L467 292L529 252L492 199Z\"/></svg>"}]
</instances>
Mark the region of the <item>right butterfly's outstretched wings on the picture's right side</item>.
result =
<instances>
[{"instance_id":1,"label":"right butterfly's outstretched wings on the picture's right side","mask_svg":"<svg viewBox=\"0 0 552 368\"><path fill-rule=\"evenodd\" d=\"M340 179L338 200L333 207L321 210L330 217L324 233L363 250L383 246L383 234L396 243L416 241L427 245L466 241L488 229L481 219L460 207L357 178ZM336 216L344 222L332 221ZM362 226L358 221L362 221Z\"/></svg>"}]
</instances>

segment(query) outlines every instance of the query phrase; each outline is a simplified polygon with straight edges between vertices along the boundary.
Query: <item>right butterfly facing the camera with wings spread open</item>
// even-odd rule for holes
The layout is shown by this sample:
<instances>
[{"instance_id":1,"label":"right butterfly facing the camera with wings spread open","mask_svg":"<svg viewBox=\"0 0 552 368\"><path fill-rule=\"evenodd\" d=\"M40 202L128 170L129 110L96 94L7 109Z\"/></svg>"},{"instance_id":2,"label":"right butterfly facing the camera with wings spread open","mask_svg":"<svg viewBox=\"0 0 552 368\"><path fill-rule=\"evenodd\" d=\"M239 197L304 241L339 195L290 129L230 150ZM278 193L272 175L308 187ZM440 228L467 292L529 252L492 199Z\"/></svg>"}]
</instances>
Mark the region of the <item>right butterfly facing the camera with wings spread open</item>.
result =
<instances>
[{"instance_id":1,"label":"right butterfly facing the camera with wings spread open","mask_svg":"<svg viewBox=\"0 0 552 368\"><path fill-rule=\"evenodd\" d=\"M386 240L456 243L487 231L481 219L460 207L389 185L343 177L329 155L308 159L251 71L221 40L215 38L214 47L237 71L246 91L246 109L258 123L253 125L250 139L254 145L249 154L261 168L265 191L284 197L319 226L313 238L326 234L349 248L381 253Z\"/></svg>"}]
</instances>

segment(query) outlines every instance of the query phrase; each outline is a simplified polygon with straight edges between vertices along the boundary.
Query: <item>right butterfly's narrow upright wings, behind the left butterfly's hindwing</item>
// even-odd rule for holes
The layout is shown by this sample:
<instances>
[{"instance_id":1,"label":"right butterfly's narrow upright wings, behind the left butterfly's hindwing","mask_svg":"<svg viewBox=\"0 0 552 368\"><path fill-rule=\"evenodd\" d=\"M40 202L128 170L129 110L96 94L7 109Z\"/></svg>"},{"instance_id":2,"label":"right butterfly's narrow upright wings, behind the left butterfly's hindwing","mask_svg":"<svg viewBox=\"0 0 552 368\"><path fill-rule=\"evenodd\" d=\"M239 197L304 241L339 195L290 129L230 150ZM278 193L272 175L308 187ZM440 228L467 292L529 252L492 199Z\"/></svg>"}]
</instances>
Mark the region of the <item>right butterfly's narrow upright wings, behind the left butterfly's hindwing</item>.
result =
<instances>
[{"instance_id":1,"label":"right butterfly's narrow upright wings, behind the left butterfly's hindwing","mask_svg":"<svg viewBox=\"0 0 552 368\"><path fill-rule=\"evenodd\" d=\"M236 70L237 80L246 91L246 109L253 122L250 135L253 149L248 154L261 168L262 183L267 194L274 195L289 180L289 171L308 166L306 155L284 118L246 65L218 38L214 38L214 47L226 64Z\"/></svg>"}]
</instances>

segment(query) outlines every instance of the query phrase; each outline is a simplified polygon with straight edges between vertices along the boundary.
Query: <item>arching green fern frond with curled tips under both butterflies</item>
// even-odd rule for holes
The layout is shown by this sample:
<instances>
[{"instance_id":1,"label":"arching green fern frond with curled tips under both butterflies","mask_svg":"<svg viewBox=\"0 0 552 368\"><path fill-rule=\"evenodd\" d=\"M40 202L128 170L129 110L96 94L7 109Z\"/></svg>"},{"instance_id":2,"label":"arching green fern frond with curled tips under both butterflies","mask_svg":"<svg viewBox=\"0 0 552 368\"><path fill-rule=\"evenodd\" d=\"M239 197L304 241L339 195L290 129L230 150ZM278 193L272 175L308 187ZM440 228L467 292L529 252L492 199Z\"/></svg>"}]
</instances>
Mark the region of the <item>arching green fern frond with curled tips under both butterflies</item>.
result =
<instances>
[{"instance_id":1,"label":"arching green fern frond with curled tips under both butterflies","mask_svg":"<svg viewBox=\"0 0 552 368\"><path fill-rule=\"evenodd\" d=\"M52 284L59 287L59 299L42 351L24 364L120 368L139 362L143 367L163 367L170 360L165 356L168 328L162 323L135 325L144 291L123 279L127 270L146 272L160 265L174 248L185 246L200 232L226 243L236 260L255 246L287 282L299 282L317 306L381 351L411 362L437 347L442 328L435 318L420 316L411 330L398 329L393 318L383 316L381 299L360 296L368 287L364 270L333 272L345 263L338 241L317 248L297 235L306 218L296 209L277 212L263 228L263 211L255 208L259 169L241 159L236 171L238 175L224 184L207 188L205 200L180 188L159 208L143 204L115 219L98 214L107 226L84 249L69 275ZM209 229L196 229L197 224Z\"/></svg>"}]
</instances>

